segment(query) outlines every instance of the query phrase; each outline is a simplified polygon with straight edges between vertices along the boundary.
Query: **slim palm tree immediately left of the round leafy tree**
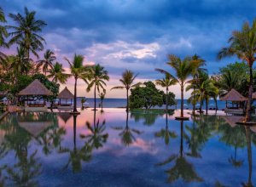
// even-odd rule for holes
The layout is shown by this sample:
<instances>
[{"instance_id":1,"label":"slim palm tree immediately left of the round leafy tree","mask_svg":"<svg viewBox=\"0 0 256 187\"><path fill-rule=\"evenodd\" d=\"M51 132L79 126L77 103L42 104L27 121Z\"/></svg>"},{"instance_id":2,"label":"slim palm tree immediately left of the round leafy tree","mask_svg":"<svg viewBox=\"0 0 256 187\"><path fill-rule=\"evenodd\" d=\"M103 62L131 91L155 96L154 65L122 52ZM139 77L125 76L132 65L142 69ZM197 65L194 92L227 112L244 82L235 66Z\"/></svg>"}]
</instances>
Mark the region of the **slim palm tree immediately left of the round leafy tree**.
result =
<instances>
[{"instance_id":1,"label":"slim palm tree immediately left of the round leafy tree","mask_svg":"<svg viewBox=\"0 0 256 187\"><path fill-rule=\"evenodd\" d=\"M126 111L128 111L129 109L129 90L133 87L136 87L139 84L137 83L132 85L137 75L134 76L134 73L132 71L125 70L125 72L123 72L122 74L122 78L119 79L119 82L121 82L123 86L111 88L111 89L124 89L124 88L126 89L126 102L127 102Z\"/></svg>"}]
</instances>

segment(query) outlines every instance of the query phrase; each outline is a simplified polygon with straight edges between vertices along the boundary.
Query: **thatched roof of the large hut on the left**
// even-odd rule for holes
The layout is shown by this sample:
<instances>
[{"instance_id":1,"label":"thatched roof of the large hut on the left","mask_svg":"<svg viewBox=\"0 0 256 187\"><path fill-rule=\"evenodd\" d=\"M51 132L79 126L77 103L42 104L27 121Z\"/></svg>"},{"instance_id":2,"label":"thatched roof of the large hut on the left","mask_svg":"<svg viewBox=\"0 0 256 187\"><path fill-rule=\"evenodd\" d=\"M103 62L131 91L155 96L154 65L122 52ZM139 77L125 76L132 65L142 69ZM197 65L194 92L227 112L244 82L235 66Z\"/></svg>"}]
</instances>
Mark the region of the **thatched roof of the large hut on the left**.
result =
<instances>
[{"instance_id":1,"label":"thatched roof of the large hut on the left","mask_svg":"<svg viewBox=\"0 0 256 187\"><path fill-rule=\"evenodd\" d=\"M42 84L38 79L34 80L25 89L22 89L19 95L53 95L49 89L47 89L44 84Z\"/></svg>"}]
</instances>

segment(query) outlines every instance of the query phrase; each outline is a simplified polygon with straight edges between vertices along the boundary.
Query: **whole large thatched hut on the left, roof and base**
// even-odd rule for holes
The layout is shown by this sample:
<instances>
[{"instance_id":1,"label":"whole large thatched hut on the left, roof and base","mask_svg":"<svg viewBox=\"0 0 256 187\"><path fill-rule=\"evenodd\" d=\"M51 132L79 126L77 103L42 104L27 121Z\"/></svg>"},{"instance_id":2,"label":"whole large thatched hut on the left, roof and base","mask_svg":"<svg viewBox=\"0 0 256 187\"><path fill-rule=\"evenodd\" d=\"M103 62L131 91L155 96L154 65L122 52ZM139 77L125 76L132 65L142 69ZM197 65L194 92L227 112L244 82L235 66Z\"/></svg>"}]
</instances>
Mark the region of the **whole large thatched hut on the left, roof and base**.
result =
<instances>
[{"instance_id":1,"label":"whole large thatched hut on the left, roof and base","mask_svg":"<svg viewBox=\"0 0 256 187\"><path fill-rule=\"evenodd\" d=\"M34 80L25 89L21 90L19 96L27 96L25 111L47 111L44 101L28 100L29 97L53 95L38 79Z\"/></svg>"}]
</instances>

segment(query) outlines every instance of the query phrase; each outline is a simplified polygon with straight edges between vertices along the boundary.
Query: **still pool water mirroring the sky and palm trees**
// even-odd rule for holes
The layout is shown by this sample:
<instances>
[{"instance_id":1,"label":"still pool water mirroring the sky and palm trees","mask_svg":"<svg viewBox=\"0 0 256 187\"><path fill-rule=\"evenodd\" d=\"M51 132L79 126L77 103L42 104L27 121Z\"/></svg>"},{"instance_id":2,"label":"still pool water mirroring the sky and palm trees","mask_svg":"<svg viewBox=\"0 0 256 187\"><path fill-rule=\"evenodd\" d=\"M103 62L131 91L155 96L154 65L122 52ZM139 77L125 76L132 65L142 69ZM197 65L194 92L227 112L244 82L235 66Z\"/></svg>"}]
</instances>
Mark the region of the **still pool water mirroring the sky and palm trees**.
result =
<instances>
[{"instance_id":1,"label":"still pool water mirroring the sky and palm trees","mask_svg":"<svg viewBox=\"0 0 256 187\"><path fill-rule=\"evenodd\" d=\"M252 186L256 128L230 116L105 109L0 122L0 186Z\"/></svg>"}]
</instances>

